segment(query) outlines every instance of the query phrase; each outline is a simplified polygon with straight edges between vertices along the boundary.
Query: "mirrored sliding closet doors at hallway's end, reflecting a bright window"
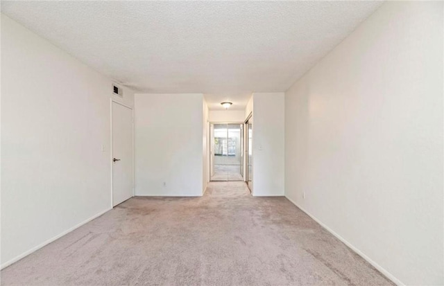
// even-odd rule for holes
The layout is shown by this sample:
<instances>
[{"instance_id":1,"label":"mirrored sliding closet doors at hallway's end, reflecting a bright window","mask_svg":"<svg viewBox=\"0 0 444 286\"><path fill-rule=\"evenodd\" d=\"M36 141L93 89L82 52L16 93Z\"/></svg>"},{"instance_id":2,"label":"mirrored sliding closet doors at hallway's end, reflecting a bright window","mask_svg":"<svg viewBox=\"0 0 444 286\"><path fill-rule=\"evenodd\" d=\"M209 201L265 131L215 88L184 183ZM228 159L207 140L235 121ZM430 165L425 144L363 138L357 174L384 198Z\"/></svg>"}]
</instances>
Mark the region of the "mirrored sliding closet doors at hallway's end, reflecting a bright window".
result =
<instances>
[{"instance_id":1,"label":"mirrored sliding closet doors at hallway's end, reflecting a bright window","mask_svg":"<svg viewBox=\"0 0 444 286\"><path fill-rule=\"evenodd\" d=\"M210 181L244 181L244 124L210 123Z\"/></svg>"}]
</instances>

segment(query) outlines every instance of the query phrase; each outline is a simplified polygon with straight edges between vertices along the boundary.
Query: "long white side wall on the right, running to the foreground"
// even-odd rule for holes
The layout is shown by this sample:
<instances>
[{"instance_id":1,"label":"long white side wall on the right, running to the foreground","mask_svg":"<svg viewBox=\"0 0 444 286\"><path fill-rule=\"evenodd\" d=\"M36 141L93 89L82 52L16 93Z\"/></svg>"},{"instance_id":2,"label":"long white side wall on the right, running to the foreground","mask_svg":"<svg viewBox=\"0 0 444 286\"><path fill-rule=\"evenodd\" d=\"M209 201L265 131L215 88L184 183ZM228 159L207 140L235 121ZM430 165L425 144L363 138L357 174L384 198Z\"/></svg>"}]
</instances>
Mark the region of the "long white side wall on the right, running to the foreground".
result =
<instances>
[{"instance_id":1,"label":"long white side wall on the right, running to the foreground","mask_svg":"<svg viewBox=\"0 0 444 286\"><path fill-rule=\"evenodd\" d=\"M285 125L285 195L397 283L443 285L443 2L384 3Z\"/></svg>"}]
</instances>

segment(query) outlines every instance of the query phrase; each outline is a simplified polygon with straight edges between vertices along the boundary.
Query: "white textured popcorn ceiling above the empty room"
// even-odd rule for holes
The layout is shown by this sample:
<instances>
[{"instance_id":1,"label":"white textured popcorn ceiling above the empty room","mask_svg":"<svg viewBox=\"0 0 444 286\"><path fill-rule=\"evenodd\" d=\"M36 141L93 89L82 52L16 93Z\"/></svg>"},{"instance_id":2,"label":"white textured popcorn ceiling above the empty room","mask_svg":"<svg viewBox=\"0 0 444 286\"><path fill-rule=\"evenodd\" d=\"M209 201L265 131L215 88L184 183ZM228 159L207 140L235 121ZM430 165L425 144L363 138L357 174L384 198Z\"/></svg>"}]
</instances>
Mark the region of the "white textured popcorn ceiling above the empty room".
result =
<instances>
[{"instance_id":1,"label":"white textured popcorn ceiling above the empty room","mask_svg":"<svg viewBox=\"0 0 444 286\"><path fill-rule=\"evenodd\" d=\"M1 1L1 11L146 93L205 93L245 107L286 91L382 2Z\"/></svg>"}]
</instances>

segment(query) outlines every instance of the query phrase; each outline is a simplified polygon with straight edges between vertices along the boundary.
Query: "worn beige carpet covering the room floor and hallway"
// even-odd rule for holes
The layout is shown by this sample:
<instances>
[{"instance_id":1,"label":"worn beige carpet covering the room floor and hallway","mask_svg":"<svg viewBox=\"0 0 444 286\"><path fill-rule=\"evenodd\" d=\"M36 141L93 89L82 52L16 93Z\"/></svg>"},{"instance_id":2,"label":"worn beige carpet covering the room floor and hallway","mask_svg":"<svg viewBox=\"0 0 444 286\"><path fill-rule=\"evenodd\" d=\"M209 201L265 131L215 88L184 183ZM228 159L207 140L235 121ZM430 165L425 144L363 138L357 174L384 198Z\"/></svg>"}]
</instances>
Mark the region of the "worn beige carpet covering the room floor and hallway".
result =
<instances>
[{"instance_id":1,"label":"worn beige carpet covering the room floor and hallway","mask_svg":"<svg viewBox=\"0 0 444 286\"><path fill-rule=\"evenodd\" d=\"M135 197L1 271L1 285L392 285L284 197L214 182Z\"/></svg>"}]
</instances>

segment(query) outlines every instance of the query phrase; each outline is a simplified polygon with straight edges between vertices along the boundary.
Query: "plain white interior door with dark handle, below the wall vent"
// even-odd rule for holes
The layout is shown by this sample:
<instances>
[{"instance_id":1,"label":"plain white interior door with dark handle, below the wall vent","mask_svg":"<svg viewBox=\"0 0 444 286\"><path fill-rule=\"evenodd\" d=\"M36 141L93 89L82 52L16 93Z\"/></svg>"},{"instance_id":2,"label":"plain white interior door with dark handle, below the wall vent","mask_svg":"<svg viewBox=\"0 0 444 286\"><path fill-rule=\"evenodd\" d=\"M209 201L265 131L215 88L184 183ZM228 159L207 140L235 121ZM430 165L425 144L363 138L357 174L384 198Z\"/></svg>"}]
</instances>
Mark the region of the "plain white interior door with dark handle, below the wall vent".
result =
<instances>
[{"instance_id":1,"label":"plain white interior door with dark handle, below the wall vent","mask_svg":"<svg viewBox=\"0 0 444 286\"><path fill-rule=\"evenodd\" d=\"M112 206L133 197L133 109L112 102Z\"/></svg>"}]
</instances>

